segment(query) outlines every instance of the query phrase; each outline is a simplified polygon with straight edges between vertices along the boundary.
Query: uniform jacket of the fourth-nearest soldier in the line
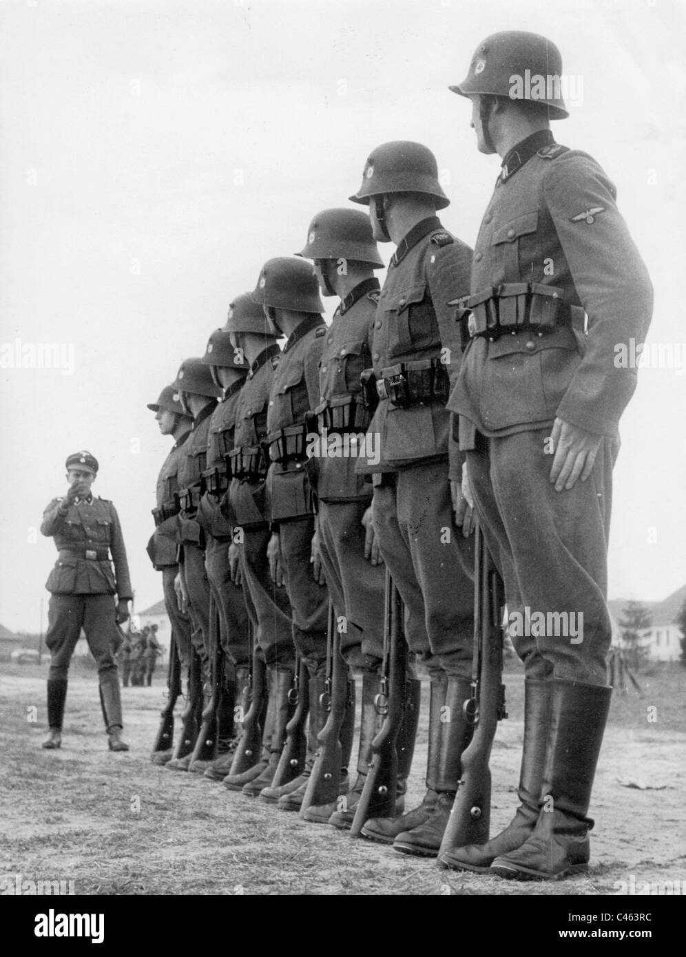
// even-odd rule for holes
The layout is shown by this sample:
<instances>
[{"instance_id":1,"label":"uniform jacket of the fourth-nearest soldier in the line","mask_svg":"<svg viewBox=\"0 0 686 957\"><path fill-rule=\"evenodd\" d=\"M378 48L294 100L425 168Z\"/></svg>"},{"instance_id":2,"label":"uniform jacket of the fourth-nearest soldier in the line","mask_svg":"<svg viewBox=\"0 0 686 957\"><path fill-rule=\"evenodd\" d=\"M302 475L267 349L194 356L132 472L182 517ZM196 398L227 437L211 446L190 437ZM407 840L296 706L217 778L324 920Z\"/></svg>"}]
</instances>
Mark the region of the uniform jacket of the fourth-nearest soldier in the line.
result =
<instances>
[{"instance_id":1,"label":"uniform jacket of the fourth-nearest soldier in the line","mask_svg":"<svg viewBox=\"0 0 686 957\"><path fill-rule=\"evenodd\" d=\"M305 421L320 399L319 366L326 326L319 314L299 324L288 339L278 364L267 408L267 434ZM267 496L272 523L312 515L317 460L281 465L272 462L267 476Z\"/></svg>"}]
</instances>

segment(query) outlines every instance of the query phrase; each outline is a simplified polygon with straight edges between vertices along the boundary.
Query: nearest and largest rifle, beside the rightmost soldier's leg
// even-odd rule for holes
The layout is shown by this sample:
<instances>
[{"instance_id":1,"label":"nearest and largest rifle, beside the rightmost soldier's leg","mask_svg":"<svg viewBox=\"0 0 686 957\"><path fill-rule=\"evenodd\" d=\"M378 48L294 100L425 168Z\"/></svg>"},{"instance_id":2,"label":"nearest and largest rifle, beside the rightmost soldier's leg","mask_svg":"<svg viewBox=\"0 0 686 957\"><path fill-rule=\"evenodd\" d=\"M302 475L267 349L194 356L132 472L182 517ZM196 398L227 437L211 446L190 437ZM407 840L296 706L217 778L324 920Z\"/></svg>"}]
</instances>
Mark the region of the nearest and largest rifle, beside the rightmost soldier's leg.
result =
<instances>
[{"instance_id":1,"label":"nearest and largest rifle, beside the rightmost soldier's leg","mask_svg":"<svg viewBox=\"0 0 686 957\"><path fill-rule=\"evenodd\" d=\"M498 720L506 718L502 682L504 588L478 524L475 530L475 644L478 671L473 682L475 732L462 753L462 777L439 855L467 844L485 844L491 822L488 766Z\"/></svg>"}]
</instances>

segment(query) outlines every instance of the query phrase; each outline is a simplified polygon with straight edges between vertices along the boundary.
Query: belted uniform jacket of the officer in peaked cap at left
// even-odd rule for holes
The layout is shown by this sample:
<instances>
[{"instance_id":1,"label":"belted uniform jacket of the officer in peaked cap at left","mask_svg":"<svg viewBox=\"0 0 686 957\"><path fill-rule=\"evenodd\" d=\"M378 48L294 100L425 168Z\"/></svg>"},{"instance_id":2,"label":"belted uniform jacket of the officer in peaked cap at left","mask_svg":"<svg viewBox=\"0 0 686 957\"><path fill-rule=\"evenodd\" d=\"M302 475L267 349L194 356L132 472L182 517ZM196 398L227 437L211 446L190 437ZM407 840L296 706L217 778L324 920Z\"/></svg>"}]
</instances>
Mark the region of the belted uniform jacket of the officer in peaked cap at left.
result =
<instances>
[{"instance_id":1,"label":"belted uniform jacket of the officer in peaked cap at left","mask_svg":"<svg viewBox=\"0 0 686 957\"><path fill-rule=\"evenodd\" d=\"M118 594L130 601L133 591L117 509L111 501L91 496L77 500L64 514L63 501L50 502L40 525L43 535L55 539L59 552L46 589L53 594Z\"/></svg>"}]
</instances>

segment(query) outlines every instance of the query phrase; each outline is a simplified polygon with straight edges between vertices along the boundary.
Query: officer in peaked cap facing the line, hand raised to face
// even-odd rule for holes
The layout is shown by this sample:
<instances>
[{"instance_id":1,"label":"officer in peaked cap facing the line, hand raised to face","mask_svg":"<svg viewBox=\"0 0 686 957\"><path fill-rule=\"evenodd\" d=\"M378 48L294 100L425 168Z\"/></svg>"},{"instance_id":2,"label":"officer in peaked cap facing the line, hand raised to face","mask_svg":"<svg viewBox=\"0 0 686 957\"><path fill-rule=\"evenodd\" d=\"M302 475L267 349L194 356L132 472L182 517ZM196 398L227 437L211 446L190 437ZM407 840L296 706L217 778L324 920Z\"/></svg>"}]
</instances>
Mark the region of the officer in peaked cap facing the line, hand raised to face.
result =
<instances>
[{"instance_id":1,"label":"officer in peaked cap facing the line, hand raised to face","mask_svg":"<svg viewBox=\"0 0 686 957\"><path fill-rule=\"evenodd\" d=\"M128 603L133 598L122 526L112 502L95 498L91 493L98 474L98 459L83 451L69 456L66 464L69 490L64 498L51 501L40 525L43 535L55 539L58 553L46 584L52 592L45 638L51 653L50 733L43 747L56 748L62 744L69 662L83 629L98 663L100 702L109 749L127 751L128 745L122 741L122 700L114 657L122 644L118 625L128 618Z\"/></svg>"}]
</instances>

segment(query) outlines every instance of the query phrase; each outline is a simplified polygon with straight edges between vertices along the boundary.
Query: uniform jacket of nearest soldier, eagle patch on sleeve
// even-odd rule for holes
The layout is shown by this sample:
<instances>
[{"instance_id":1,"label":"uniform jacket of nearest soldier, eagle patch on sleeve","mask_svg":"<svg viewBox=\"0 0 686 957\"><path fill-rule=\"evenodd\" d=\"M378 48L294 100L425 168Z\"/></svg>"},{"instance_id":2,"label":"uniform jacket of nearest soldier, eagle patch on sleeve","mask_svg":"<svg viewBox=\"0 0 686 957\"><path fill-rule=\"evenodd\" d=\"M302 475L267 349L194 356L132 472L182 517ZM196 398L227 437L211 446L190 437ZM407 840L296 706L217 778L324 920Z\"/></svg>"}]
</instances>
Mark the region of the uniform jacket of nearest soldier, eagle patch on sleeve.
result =
<instances>
[{"instance_id":1,"label":"uniform jacket of nearest soldier, eagle patch on sleeve","mask_svg":"<svg viewBox=\"0 0 686 957\"><path fill-rule=\"evenodd\" d=\"M549 130L505 158L476 240L472 293L501 282L550 284L583 307L587 333L558 325L541 336L471 340L449 402L461 416L461 448L473 447L474 427L504 435L556 416L617 435L636 370L615 366L615 346L643 342L653 289L615 195L595 160L554 144Z\"/></svg>"}]
</instances>

